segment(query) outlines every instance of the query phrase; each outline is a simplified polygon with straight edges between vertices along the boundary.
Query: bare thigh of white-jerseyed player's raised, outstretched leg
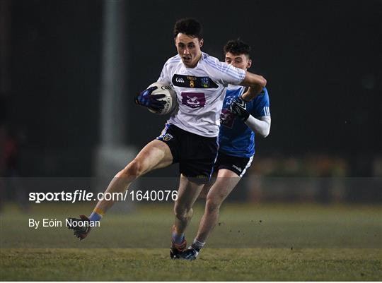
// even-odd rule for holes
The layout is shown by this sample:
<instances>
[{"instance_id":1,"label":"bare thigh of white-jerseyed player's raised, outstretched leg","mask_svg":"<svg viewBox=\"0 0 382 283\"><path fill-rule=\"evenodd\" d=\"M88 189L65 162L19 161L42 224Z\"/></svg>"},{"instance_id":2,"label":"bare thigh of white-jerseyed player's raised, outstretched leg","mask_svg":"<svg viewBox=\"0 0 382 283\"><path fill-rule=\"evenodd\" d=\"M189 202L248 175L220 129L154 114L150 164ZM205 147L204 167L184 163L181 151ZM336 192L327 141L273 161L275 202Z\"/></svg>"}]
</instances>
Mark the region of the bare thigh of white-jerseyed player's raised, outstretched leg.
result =
<instances>
[{"instance_id":1,"label":"bare thigh of white-jerseyed player's raised, outstretched leg","mask_svg":"<svg viewBox=\"0 0 382 283\"><path fill-rule=\"evenodd\" d=\"M135 157L144 169L143 174L154 169L167 167L173 163L170 147L161 140L152 140Z\"/></svg>"}]
</instances>

